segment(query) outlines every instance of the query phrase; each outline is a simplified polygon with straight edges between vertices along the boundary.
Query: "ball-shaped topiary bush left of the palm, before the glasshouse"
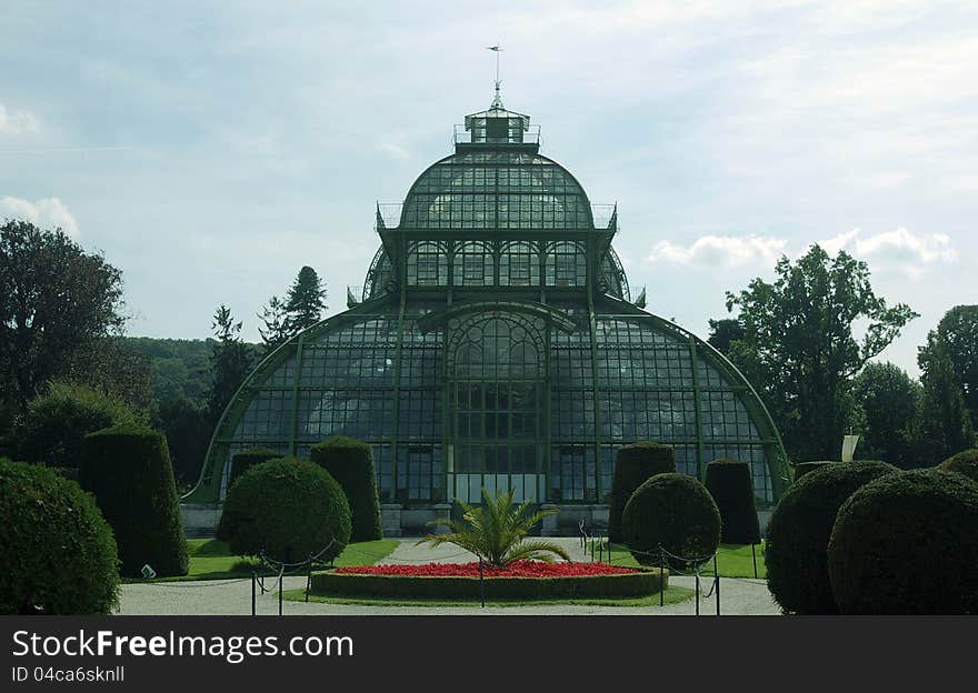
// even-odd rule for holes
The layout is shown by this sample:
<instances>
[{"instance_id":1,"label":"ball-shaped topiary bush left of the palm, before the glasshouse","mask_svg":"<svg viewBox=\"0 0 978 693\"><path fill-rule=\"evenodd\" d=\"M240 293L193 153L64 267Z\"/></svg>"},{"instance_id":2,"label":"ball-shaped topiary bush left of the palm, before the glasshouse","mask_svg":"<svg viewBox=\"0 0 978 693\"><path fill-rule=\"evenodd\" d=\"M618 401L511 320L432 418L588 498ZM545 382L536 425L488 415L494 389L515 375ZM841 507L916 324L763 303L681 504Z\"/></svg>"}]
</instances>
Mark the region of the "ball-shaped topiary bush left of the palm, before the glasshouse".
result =
<instances>
[{"instance_id":1,"label":"ball-shaped topiary bush left of the palm, before the glasshouse","mask_svg":"<svg viewBox=\"0 0 978 693\"><path fill-rule=\"evenodd\" d=\"M269 460L228 491L218 539L233 553L298 563L319 553L331 561L350 540L350 505L339 483L308 460Z\"/></svg>"}]
</instances>

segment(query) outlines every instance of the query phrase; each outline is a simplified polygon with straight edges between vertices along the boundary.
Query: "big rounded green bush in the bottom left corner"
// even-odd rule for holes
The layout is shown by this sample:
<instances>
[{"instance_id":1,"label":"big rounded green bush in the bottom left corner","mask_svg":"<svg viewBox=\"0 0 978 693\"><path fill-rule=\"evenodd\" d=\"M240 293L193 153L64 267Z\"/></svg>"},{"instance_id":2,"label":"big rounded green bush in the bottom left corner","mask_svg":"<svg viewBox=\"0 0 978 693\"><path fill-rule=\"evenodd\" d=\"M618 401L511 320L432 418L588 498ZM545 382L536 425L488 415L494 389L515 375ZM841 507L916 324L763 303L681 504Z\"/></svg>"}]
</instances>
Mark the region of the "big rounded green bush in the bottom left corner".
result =
<instances>
[{"instance_id":1,"label":"big rounded green bush in the bottom left corner","mask_svg":"<svg viewBox=\"0 0 978 693\"><path fill-rule=\"evenodd\" d=\"M116 540L90 495L52 470L0 459L0 614L107 614Z\"/></svg>"}]
</instances>

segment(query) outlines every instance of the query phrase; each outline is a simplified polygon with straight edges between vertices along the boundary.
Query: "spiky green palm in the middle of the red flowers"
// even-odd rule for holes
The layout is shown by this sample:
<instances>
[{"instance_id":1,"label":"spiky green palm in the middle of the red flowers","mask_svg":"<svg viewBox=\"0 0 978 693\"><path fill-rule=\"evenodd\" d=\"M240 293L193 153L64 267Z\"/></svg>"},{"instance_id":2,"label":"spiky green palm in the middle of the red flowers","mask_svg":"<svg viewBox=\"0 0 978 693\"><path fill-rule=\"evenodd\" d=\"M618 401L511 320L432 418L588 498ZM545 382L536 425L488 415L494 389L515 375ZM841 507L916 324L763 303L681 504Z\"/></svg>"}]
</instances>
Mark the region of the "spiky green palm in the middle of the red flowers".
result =
<instances>
[{"instance_id":1,"label":"spiky green palm in the middle of the red flowers","mask_svg":"<svg viewBox=\"0 0 978 693\"><path fill-rule=\"evenodd\" d=\"M461 521L439 519L429 525L448 526L448 534L429 534L418 544L430 543L435 546L455 544L470 551L480 560L496 568L506 568L515 561L536 560L553 562L553 555L570 561L570 556L558 544L547 541L522 541L523 536L543 518L560 512L559 510L541 510L528 514L532 500L523 501L513 506L515 490L500 491L492 499L482 489L483 506L476 508L468 503L459 504L465 511Z\"/></svg>"}]
</instances>

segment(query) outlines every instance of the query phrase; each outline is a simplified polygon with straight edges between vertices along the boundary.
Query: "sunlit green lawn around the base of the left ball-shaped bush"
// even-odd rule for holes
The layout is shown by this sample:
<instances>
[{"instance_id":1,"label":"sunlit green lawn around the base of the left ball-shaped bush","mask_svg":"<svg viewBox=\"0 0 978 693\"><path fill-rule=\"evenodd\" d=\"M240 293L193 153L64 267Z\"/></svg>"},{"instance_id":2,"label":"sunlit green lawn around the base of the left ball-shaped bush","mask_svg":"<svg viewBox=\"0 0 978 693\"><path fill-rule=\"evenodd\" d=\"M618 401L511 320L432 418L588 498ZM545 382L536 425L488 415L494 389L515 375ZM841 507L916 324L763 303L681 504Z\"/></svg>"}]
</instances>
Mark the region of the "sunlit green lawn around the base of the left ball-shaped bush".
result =
<instances>
[{"instance_id":1,"label":"sunlit green lawn around the base of the left ball-shaped bush","mask_svg":"<svg viewBox=\"0 0 978 693\"><path fill-rule=\"evenodd\" d=\"M380 559L390 555L397 545L398 542L390 539L349 544L337 556L335 565L373 565ZM252 571L262 572L262 568L256 559L234 555L226 542L216 539L187 540L187 553L190 554L190 570L186 575L159 578L152 582L227 580L229 578L248 578ZM144 581L127 580L126 582Z\"/></svg>"}]
</instances>

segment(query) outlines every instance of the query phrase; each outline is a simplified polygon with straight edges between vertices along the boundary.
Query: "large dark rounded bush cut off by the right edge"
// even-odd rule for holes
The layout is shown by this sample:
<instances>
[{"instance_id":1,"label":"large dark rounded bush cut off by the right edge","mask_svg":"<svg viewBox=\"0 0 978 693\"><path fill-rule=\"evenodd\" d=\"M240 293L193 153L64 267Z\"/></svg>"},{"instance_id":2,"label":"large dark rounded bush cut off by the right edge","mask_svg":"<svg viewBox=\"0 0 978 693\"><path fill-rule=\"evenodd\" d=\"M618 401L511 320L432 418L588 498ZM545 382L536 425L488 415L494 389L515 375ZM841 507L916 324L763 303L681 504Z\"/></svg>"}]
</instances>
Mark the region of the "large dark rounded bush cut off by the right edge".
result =
<instances>
[{"instance_id":1,"label":"large dark rounded bush cut off by the right edge","mask_svg":"<svg viewBox=\"0 0 978 693\"><path fill-rule=\"evenodd\" d=\"M957 472L914 470L866 484L839 509L829 541L839 611L978 613L976 528L978 484Z\"/></svg>"}]
</instances>

